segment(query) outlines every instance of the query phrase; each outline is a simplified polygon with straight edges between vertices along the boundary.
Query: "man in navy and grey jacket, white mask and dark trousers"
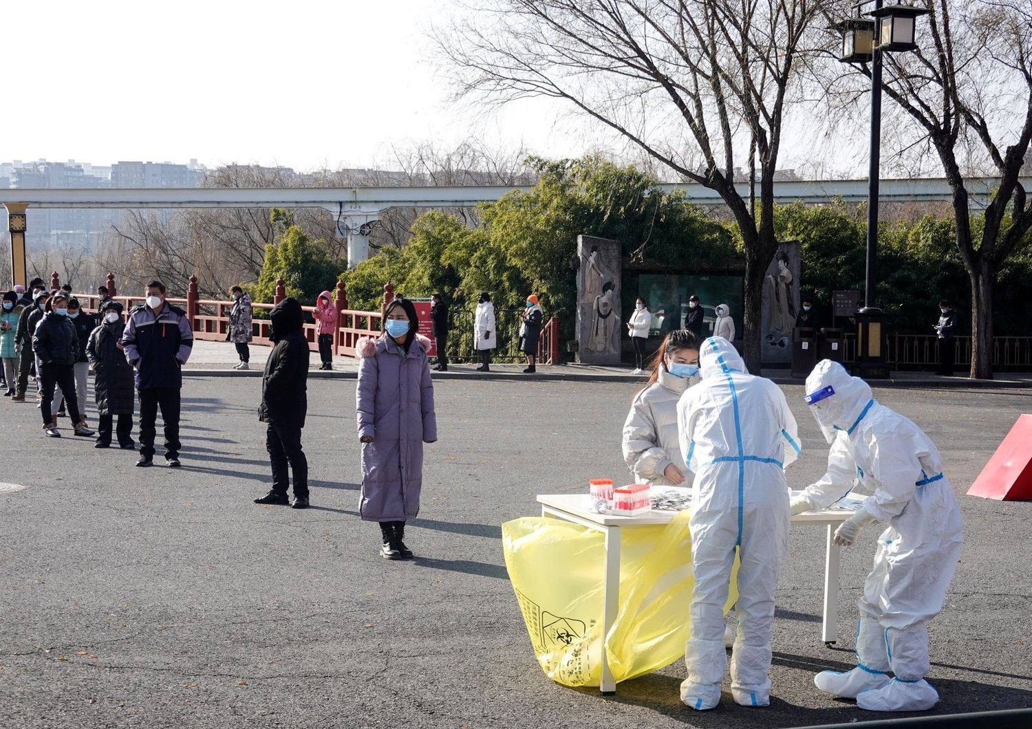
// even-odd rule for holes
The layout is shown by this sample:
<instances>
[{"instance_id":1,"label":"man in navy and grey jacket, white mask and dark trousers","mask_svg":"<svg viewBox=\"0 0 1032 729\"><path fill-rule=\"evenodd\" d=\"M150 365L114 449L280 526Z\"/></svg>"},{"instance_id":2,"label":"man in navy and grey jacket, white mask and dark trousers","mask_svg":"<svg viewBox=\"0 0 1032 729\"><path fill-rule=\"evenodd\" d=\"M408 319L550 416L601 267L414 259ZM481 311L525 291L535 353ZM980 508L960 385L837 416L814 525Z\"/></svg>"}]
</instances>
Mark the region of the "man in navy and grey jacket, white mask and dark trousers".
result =
<instances>
[{"instance_id":1,"label":"man in navy and grey jacket, white mask and dark trousers","mask_svg":"<svg viewBox=\"0 0 1032 729\"><path fill-rule=\"evenodd\" d=\"M126 360L136 368L139 392L139 460L136 465L154 465L154 436L158 408L165 422L165 462L180 467L180 392L182 367L193 349L193 330L183 309L165 301L165 285L147 285L147 300L129 311L129 324L122 333Z\"/></svg>"}]
</instances>

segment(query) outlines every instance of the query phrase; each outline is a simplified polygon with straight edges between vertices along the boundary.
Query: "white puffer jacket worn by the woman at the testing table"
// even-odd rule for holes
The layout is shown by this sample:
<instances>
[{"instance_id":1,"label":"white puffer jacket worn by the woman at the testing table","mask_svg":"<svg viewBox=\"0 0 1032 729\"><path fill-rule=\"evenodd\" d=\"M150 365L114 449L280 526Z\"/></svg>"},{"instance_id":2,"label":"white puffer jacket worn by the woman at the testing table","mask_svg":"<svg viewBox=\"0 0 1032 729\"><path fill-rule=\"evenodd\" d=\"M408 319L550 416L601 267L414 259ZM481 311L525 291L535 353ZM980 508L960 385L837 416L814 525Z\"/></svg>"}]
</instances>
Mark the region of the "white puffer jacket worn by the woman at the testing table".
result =
<instances>
[{"instance_id":1,"label":"white puffer jacket worn by the woman at the testing table","mask_svg":"<svg viewBox=\"0 0 1032 729\"><path fill-rule=\"evenodd\" d=\"M699 375L675 377L660 364L658 382L645 388L631 404L623 424L623 460L636 483L670 486L663 471L673 463L684 474L680 486L691 486L677 434L677 402L698 382Z\"/></svg>"}]
</instances>

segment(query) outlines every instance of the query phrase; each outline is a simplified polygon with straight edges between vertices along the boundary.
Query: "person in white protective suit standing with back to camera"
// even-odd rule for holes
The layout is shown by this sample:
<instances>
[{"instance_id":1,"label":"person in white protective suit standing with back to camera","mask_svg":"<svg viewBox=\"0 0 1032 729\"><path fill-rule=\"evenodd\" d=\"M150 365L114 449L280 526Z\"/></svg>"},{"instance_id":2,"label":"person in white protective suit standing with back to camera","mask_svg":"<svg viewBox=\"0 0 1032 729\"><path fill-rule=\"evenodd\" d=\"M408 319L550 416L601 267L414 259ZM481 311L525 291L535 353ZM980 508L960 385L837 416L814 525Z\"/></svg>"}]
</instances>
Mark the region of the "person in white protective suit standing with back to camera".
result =
<instances>
[{"instance_id":1,"label":"person in white protective suit standing with back to camera","mask_svg":"<svg viewBox=\"0 0 1032 729\"><path fill-rule=\"evenodd\" d=\"M727 339L707 339L700 365L702 382L677 407L681 450L696 474L688 522L696 585L681 700L700 710L720 701L728 662L722 610L738 548L731 693L743 706L767 706L774 586L792 518L783 469L800 451L796 419L781 390L750 375Z\"/></svg>"}]
</instances>

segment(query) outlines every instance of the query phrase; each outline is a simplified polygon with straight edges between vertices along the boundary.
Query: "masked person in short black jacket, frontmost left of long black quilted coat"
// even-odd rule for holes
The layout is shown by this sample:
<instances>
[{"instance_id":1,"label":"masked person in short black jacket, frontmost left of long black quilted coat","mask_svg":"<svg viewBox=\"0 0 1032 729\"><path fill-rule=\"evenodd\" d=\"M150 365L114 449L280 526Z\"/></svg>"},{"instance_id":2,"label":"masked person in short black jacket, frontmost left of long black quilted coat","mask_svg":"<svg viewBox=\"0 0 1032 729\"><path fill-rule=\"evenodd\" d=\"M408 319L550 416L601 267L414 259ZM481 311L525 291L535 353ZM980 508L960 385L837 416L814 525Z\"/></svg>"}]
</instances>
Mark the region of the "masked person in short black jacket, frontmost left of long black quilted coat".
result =
<instances>
[{"instance_id":1,"label":"masked person in short black jacket, frontmost left of long black quilted coat","mask_svg":"<svg viewBox=\"0 0 1032 729\"><path fill-rule=\"evenodd\" d=\"M68 295L64 292L59 291L52 297L51 310L36 326L32 336L32 349L39 359L39 383L43 395L39 411L43 417L43 432L52 438L61 437L51 416L54 388L57 386L68 401L75 435L93 435L79 413L78 398L75 396L74 366L78 360L78 335L68 320Z\"/></svg>"}]
</instances>

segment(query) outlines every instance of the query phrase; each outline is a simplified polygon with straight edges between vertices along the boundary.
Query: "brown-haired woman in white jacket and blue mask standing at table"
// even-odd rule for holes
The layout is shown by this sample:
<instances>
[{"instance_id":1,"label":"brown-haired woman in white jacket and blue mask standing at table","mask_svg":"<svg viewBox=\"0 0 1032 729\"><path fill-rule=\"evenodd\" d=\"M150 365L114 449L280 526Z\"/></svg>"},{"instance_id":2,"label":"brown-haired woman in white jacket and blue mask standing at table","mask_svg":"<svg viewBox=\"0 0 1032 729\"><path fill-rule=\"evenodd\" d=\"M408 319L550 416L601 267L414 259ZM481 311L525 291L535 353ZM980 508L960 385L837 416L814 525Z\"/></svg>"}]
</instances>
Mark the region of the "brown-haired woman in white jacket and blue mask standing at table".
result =
<instances>
[{"instance_id":1,"label":"brown-haired woman in white jacket and blue mask standing at table","mask_svg":"<svg viewBox=\"0 0 1032 729\"><path fill-rule=\"evenodd\" d=\"M623 460L635 481L679 486L685 479L677 433L677 401L699 382L699 341L687 329L671 332L652 360L648 384L631 403L623 424Z\"/></svg>"}]
</instances>

